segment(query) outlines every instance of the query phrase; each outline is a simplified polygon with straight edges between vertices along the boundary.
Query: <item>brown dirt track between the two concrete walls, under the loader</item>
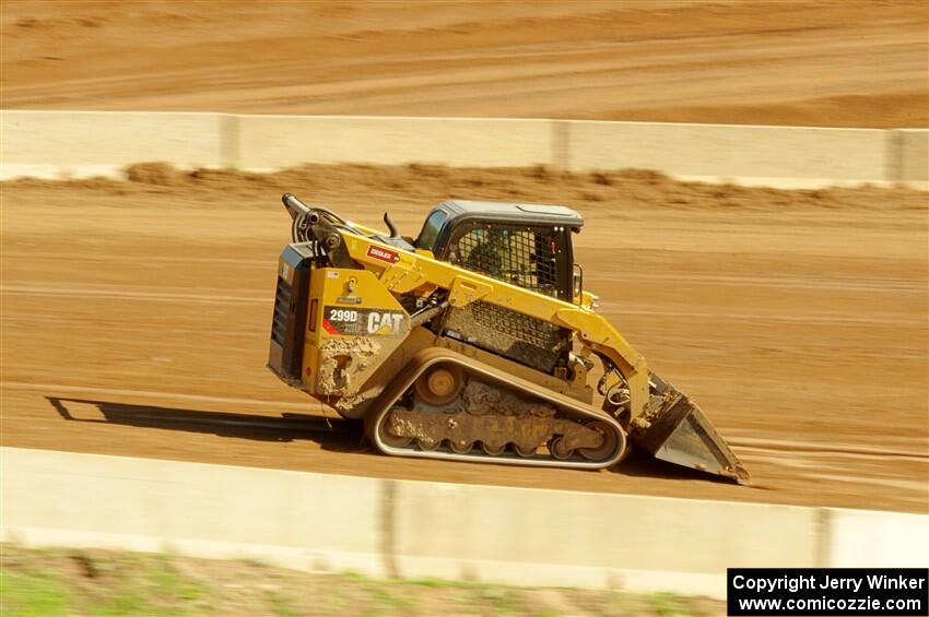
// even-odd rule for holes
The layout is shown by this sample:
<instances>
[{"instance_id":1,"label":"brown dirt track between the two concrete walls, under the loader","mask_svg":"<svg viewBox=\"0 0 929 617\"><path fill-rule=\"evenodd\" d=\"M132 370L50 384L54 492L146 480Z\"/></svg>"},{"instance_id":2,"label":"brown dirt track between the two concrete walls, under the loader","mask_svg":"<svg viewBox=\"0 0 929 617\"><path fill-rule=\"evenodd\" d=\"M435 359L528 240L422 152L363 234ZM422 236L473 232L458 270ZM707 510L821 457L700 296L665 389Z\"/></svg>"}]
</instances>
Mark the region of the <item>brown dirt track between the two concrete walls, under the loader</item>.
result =
<instances>
[{"instance_id":1,"label":"brown dirt track between the two concrete walls, under the loader","mask_svg":"<svg viewBox=\"0 0 929 617\"><path fill-rule=\"evenodd\" d=\"M926 193L543 168L141 171L162 183L0 185L4 446L927 509ZM368 224L389 210L407 234L447 197L576 207L601 310L703 406L755 487L650 462L572 472L390 459L365 451L350 426L329 430L318 405L264 368L290 233L284 190Z\"/></svg>"}]
</instances>

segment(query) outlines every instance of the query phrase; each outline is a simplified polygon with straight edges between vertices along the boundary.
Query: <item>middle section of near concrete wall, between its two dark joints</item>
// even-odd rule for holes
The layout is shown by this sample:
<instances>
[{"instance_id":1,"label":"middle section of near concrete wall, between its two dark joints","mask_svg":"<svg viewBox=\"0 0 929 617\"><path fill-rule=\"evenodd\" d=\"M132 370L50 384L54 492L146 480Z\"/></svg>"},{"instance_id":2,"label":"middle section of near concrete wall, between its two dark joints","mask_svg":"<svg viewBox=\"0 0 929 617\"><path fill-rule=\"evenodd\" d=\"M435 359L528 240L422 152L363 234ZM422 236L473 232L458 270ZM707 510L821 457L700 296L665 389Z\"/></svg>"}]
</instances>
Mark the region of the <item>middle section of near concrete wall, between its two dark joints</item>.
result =
<instances>
[{"instance_id":1,"label":"middle section of near concrete wall, between its two dark joints","mask_svg":"<svg viewBox=\"0 0 929 617\"><path fill-rule=\"evenodd\" d=\"M398 502L412 578L721 597L728 567L820 559L809 508L427 483L399 483Z\"/></svg>"}]
</instances>

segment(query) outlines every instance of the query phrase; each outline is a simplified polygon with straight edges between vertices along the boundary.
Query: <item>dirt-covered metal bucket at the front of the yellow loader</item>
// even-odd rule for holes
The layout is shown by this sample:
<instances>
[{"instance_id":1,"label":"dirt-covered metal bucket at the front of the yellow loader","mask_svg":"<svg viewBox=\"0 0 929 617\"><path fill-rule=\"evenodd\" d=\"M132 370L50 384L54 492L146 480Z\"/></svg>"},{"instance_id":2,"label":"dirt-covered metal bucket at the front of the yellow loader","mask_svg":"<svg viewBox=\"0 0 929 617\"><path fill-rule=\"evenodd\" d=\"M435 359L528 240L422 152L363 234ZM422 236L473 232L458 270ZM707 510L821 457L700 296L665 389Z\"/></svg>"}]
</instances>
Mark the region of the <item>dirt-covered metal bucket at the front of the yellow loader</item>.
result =
<instances>
[{"instance_id":1,"label":"dirt-covered metal bucket at the front of the yellow loader","mask_svg":"<svg viewBox=\"0 0 929 617\"><path fill-rule=\"evenodd\" d=\"M656 459L750 484L749 472L701 408L670 383L650 377L650 408L633 419L633 441Z\"/></svg>"}]
</instances>

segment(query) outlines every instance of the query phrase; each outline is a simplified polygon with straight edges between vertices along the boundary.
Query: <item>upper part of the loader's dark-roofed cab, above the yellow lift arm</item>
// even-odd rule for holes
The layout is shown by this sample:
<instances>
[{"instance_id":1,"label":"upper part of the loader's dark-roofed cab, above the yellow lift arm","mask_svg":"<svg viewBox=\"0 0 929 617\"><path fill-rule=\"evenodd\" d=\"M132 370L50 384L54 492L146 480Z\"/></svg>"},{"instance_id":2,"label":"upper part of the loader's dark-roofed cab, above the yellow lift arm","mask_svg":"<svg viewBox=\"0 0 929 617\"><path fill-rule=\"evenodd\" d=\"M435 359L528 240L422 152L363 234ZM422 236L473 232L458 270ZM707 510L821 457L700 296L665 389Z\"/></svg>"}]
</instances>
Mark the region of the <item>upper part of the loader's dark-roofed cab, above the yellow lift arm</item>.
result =
<instances>
[{"instance_id":1,"label":"upper part of the loader's dark-roofed cab, above the yellow lift arm","mask_svg":"<svg viewBox=\"0 0 929 617\"><path fill-rule=\"evenodd\" d=\"M447 261L564 301L576 297L571 234L584 217L562 205L448 200L413 242Z\"/></svg>"}]
</instances>

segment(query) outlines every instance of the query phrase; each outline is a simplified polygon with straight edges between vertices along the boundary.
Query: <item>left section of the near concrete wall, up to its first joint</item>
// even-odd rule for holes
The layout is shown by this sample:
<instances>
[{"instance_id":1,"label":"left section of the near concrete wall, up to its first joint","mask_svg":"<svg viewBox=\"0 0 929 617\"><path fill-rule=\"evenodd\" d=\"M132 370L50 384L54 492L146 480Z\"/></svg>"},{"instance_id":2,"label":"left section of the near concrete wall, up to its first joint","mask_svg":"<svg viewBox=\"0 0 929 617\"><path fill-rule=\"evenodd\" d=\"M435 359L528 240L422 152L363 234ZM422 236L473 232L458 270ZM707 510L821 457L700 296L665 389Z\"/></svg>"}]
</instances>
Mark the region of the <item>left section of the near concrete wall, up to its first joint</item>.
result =
<instances>
[{"instance_id":1,"label":"left section of the near concrete wall, up to its first joint","mask_svg":"<svg viewBox=\"0 0 929 617\"><path fill-rule=\"evenodd\" d=\"M3 542L383 573L375 479L15 448L0 462Z\"/></svg>"}]
</instances>

